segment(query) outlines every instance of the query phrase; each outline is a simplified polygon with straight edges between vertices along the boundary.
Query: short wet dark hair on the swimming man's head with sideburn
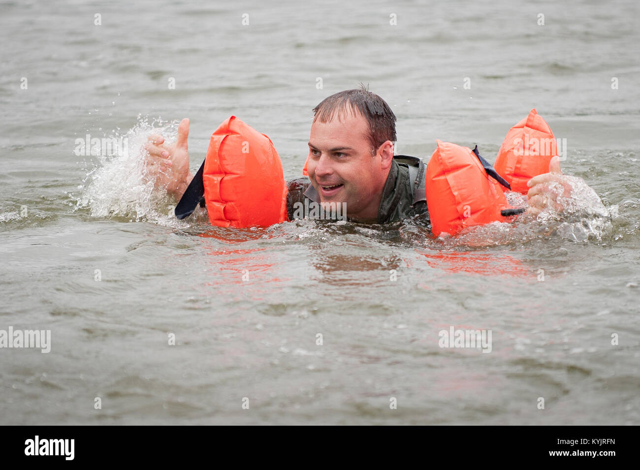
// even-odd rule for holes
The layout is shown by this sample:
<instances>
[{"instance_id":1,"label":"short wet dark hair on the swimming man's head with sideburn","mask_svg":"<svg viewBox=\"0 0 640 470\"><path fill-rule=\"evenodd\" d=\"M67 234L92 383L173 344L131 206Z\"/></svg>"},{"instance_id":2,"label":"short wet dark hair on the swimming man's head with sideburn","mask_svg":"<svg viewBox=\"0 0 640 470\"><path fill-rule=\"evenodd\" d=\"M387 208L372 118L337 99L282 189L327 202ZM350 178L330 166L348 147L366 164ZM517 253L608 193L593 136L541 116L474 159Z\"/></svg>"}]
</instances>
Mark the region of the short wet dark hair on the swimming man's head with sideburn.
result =
<instances>
[{"instance_id":1,"label":"short wet dark hair on the swimming man's head with sideburn","mask_svg":"<svg viewBox=\"0 0 640 470\"><path fill-rule=\"evenodd\" d=\"M356 90L345 90L324 98L314 107L314 122L333 120L336 113L340 120L344 119L348 110L360 113L369 123L369 142L371 153L375 155L378 148L386 141L396 142L396 114L376 93L367 90L364 84Z\"/></svg>"}]
</instances>

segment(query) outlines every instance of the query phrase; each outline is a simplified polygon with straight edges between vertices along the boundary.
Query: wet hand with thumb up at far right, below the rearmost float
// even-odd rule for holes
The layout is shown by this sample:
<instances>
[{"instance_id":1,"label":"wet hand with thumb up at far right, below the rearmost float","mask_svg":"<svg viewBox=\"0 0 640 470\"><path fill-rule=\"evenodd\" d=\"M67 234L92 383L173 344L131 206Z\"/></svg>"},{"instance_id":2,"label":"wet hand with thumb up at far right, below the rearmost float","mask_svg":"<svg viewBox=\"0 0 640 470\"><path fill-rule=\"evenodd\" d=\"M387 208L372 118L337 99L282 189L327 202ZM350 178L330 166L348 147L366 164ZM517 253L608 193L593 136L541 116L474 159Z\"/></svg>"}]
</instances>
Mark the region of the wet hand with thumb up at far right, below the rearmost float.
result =
<instances>
[{"instance_id":1,"label":"wet hand with thumb up at far right, below the rearmost float","mask_svg":"<svg viewBox=\"0 0 640 470\"><path fill-rule=\"evenodd\" d=\"M538 215L545 208L550 207L556 212L563 212L564 207L559 202L559 198L569 198L572 192L572 185L569 177L563 175L560 169L560 157L556 156L549 162L549 172L534 176L527 182L529 192L528 214Z\"/></svg>"}]
</instances>

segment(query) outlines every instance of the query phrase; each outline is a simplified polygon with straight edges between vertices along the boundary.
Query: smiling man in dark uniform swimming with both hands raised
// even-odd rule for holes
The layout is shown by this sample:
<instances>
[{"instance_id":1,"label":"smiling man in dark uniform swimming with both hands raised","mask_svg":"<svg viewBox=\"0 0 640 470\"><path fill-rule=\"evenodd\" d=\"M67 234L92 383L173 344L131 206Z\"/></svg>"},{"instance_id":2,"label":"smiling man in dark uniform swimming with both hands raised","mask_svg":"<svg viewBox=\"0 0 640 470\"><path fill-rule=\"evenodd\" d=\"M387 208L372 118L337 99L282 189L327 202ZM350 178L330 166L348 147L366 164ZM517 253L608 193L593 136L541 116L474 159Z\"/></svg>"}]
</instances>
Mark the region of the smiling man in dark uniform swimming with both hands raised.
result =
<instances>
[{"instance_id":1,"label":"smiling man in dark uniform swimming with both hands raised","mask_svg":"<svg viewBox=\"0 0 640 470\"><path fill-rule=\"evenodd\" d=\"M396 116L382 98L364 87L340 91L313 111L308 178L288 182L290 218L292 203L305 198L317 203L346 203L349 220L361 223L388 223L428 214L424 201L413 203L408 166L393 158ZM149 136L145 144L148 176L177 201L193 178L188 134L189 120L185 118L180 121L175 144L165 144L164 137L157 134ZM549 173L529 180L530 214L537 215L547 206L563 210L550 185L562 185L565 198L572 190L569 178L575 177L563 175L559 157L551 160L549 169Z\"/></svg>"}]
</instances>

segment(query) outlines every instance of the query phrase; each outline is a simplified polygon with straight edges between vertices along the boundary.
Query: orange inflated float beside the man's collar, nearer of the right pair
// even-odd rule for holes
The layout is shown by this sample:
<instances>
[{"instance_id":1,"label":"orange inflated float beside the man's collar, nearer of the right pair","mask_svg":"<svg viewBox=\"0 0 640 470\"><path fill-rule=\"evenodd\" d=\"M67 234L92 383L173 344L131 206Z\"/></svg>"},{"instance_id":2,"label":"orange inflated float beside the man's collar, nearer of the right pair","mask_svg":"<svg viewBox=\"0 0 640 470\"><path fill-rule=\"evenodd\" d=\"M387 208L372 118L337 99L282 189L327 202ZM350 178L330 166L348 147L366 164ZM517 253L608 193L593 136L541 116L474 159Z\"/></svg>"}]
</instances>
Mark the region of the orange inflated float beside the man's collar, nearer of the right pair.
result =
<instances>
[{"instance_id":1,"label":"orange inflated float beside the man's collar, nearer of the right pair","mask_svg":"<svg viewBox=\"0 0 640 470\"><path fill-rule=\"evenodd\" d=\"M433 235L455 235L466 227L509 221L500 214L500 210L512 208L502 185L486 173L477 153L449 142L436 143L426 173Z\"/></svg>"}]
</instances>

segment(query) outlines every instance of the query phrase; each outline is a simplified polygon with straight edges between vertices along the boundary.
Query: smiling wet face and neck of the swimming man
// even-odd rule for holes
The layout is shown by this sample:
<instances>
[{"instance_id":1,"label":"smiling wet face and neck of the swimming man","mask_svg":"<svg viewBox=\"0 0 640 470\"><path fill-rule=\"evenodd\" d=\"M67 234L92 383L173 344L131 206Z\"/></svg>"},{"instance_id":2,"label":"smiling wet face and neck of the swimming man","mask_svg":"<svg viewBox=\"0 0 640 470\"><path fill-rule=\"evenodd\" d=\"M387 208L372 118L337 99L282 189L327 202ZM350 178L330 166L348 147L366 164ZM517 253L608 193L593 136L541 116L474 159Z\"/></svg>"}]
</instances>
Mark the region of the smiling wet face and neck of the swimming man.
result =
<instances>
[{"instance_id":1,"label":"smiling wet face and neck of the swimming man","mask_svg":"<svg viewBox=\"0 0 640 470\"><path fill-rule=\"evenodd\" d=\"M389 141L372 155L368 135L364 116L349 111L343 120L336 113L332 121L314 121L309 138L307 171L321 203L344 202L358 221L376 220L393 156Z\"/></svg>"}]
</instances>

